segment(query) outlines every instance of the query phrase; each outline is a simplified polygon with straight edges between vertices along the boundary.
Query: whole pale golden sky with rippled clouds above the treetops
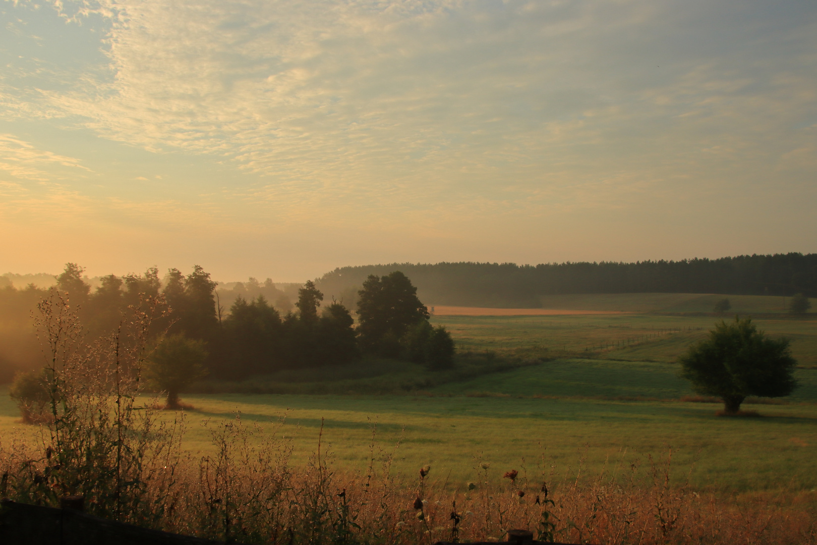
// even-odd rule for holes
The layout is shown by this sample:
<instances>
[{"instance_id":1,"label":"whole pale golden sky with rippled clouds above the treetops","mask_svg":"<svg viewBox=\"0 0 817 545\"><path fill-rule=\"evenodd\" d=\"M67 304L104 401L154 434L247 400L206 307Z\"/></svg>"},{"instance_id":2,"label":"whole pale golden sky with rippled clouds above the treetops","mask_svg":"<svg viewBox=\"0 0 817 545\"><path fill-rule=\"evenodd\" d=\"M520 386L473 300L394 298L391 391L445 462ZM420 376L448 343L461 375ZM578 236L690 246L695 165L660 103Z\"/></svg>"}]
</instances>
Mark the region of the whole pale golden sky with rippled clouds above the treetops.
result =
<instances>
[{"instance_id":1,"label":"whole pale golden sky with rippled clouds above the treetops","mask_svg":"<svg viewBox=\"0 0 817 545\"><path fill-rule=\"evenodd\" d=\"M0 0L0 272L817 252L814 0Z\"/></svg>"}]
</instances>

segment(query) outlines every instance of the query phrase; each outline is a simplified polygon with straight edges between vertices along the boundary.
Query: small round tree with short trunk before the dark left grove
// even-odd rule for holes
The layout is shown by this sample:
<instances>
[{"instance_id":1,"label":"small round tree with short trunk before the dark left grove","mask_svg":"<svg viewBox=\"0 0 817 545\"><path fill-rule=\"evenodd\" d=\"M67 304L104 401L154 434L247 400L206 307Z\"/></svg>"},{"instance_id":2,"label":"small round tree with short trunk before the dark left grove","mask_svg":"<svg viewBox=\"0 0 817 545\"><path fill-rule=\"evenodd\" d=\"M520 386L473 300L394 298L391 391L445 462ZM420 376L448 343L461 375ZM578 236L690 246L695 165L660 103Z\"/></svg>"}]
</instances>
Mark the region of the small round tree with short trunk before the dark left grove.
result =
<instances>
[{"instance_id":1,"label":"small round tree with short trunk before the dark left grove","mask_svg":"<svg viewBox=\"0 0 817 545\"><path fill-rule=\"evenodd\" d=\"M181 333L167 335L150 355L145 376L167 392L167 409L181 409L179 394L193 382L207 375L204 360L208 353L204 343Z\"/></svg>"}]
</instances>

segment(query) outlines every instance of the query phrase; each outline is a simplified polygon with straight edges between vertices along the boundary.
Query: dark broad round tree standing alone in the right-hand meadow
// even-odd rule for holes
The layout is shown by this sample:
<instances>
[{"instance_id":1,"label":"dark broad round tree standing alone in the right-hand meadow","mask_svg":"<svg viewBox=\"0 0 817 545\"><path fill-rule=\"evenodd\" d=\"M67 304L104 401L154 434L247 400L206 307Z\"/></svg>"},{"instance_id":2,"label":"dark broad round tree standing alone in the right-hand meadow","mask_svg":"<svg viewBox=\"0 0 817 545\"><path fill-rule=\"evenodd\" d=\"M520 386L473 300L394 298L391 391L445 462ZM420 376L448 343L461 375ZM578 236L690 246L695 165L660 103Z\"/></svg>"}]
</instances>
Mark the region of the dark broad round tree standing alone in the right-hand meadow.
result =
<instances>
[{"instance_id":1,"label":"dark broad round tree standing alone in the right-hand meadow","mask_svg":"<svg viewBox=\"0 0 817 545\"><path fill-rule=\"evenodd\" d=\"M680 362L681 377L699 394L720 397L726 414L739 413L748 395L782 397L797 387L788 339L766 337L748 318L716 324Z\"/></svg>"}]
</instances>

